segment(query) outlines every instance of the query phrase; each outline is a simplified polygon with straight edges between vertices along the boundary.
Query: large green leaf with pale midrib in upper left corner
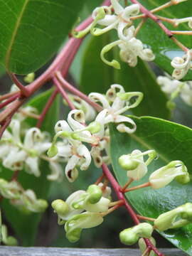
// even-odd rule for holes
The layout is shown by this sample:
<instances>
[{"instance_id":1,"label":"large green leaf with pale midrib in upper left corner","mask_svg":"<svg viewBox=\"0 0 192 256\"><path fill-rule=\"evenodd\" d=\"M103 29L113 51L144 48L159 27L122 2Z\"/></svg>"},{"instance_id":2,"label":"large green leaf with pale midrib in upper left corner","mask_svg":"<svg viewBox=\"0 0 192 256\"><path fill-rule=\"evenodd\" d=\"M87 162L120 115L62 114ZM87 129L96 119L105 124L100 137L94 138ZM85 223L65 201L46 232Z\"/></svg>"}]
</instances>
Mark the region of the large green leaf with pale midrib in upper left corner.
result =
<instances>
[{"instance_id":1,"label":"large green leaf with pale midrib in upper left corner","mask_svg":"<svg viewBox=\"0 0 192 256\"><path fill-rule=\"evenodd\" d=\"M60 48L84 0L0 0L0 61L10 72L41 68Z\"/></svg>"}]
</instances>

